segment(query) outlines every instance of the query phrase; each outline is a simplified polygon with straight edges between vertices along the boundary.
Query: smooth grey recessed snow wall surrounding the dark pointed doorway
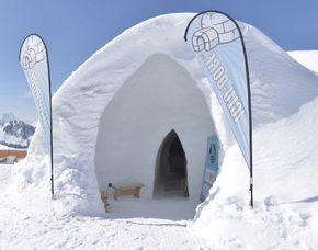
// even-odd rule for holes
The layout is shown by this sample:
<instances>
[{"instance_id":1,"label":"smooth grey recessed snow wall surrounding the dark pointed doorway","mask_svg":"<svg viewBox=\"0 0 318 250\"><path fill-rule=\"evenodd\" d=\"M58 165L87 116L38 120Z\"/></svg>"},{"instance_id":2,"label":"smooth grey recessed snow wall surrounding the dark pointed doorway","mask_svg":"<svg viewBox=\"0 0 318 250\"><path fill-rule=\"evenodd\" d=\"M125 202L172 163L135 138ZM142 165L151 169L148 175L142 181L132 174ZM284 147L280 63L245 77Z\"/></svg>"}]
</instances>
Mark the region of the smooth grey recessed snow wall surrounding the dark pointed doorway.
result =
<instances>
[{"instance_id":1,"label":"smooth grey recessed snow wall surrounding the dark pointed doorway","mask_svg":"<svg viewBox=\"0 0 318 250\"><path fill-rule=\"evenodd\" d=\"M172 129L185 152L189 195L198 200L207 137L215 134L215 126L190 73L169 56L155 54L102 114L95 148L100 188L141 183L143 196L152 197L158 151Z\"/></svg>"}]
</instances>

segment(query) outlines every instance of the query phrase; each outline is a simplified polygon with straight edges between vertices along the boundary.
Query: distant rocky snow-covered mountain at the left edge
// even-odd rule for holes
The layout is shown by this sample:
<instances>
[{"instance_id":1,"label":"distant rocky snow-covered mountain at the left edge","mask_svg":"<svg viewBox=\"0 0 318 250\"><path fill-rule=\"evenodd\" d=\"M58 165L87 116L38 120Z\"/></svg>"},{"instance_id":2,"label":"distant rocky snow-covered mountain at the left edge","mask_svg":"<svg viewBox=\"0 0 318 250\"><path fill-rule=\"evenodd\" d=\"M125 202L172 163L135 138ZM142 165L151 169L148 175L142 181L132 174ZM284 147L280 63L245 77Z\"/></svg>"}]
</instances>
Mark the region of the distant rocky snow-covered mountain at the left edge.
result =
<instances>
[{"instance_id":1,"label":"distant rocky snow-covered mountain at the left edge","mask_svg":"<svg viewBox=\"0 0 318 250\"><path fill-rule=\"evenodd\" d=\"M19 120L13 113L0 118L0 144L11 148L27 148L35 127Z\"/></svg>"}]
</instances>

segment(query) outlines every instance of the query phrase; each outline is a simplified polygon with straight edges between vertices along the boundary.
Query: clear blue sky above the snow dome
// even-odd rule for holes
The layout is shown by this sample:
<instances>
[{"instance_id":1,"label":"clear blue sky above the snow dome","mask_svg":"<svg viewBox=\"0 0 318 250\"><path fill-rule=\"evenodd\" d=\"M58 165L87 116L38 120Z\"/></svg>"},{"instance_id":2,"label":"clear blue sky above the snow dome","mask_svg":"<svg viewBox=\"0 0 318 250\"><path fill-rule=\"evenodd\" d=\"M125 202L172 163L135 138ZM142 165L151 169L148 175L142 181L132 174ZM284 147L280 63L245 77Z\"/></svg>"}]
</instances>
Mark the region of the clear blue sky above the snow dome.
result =
<instances>
[{"instance_id":1,"label":"clear blue sky above the snow dome","mask_svg":"<svg viewBox=\"0 0 318 250\"><path fill-rule=\"evenodd\" d=\"M317 0L0 0L0 115L36 120L18 61L27 34L39 34L47 44L55 91L127 27L164 13L208 9L259 27L285 50L318 50Z\"/></svg>"}]
</instances>

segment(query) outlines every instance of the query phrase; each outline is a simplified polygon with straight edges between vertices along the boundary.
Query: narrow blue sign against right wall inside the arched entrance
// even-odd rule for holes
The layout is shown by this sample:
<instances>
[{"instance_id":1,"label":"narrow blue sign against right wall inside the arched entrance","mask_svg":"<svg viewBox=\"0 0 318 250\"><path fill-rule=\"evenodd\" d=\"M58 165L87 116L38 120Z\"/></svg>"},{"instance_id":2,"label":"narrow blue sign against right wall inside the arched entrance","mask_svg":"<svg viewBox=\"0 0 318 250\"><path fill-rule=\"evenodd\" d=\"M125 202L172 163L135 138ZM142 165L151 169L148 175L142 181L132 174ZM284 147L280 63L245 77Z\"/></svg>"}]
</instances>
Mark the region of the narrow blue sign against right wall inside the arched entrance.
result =
<instances>
[{"instance_id":1,"label":"narrow blue sign against right wall inside the arched entrance","mask_svg":"<svg viewBox=\"0 0 318 250\"><path fill-rule=\"evenodd\" d=\"M215 135L209 136L207 138L205 168L203 174L202 191L200 195L200 200L202 202L208 196L208 192L213 183L215 182L216 174L218 172L218 150L219 143L217 137Z\"/></svg>"}]
</instances>

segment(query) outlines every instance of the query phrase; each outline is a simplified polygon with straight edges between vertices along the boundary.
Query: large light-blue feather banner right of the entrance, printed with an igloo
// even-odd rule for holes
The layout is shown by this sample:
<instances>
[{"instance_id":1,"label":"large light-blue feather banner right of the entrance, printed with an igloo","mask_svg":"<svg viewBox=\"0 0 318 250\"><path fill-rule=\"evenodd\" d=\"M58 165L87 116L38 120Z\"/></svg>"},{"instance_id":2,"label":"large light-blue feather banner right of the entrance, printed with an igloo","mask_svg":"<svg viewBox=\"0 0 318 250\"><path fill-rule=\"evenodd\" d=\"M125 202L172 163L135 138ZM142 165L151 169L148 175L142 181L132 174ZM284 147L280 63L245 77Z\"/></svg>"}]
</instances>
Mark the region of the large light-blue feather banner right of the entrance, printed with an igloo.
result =
<instances>
[{"instance_id":1,"label":"large light-blue feather banner right of the entrance, printed with an igloo","mask_svg":"<svg viewBox=\"0 0 318 250\"><path fill-rule=\"evenodd\" d=\"M250 87L239 26L224 13L206 11L191 20L184 38L205 71L251 169Z\"/></svg>"}]
</instances>

